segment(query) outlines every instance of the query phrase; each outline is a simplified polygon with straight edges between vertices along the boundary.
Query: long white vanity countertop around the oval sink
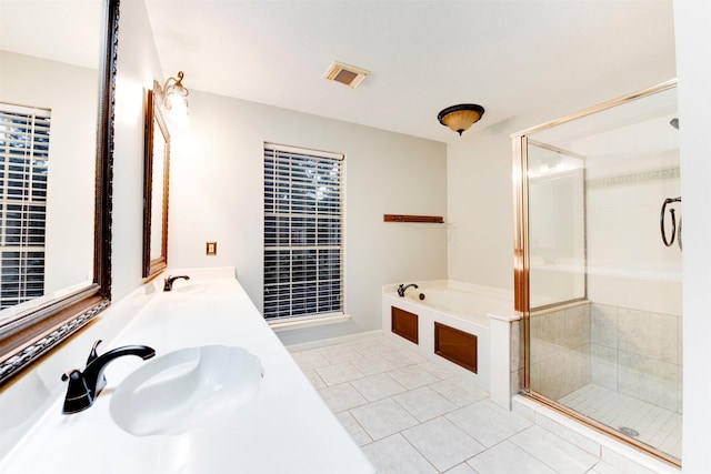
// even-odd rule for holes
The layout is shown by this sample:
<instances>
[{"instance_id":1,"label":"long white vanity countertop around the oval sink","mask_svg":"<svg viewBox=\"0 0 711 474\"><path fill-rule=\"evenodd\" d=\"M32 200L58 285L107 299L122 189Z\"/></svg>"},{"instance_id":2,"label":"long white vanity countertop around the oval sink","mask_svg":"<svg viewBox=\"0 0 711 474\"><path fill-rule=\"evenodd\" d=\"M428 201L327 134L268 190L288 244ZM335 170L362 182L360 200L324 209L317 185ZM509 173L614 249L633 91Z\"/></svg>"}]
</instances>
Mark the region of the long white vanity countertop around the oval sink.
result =
<instances>
[{"instance_id":1,"label":"long white vanity countertop around the oval sink","mask_svg":"<svg viewBox=\"0 0 711 474\"><path fill-rule=\"evenodd\" d=\"M150 345L157 356L187 346L242 346L259 356L264 369L252 400L204 428L176 436L133 436L114 424L109 405L116 386L147 362L120 357L107 366L108 385L92 407L62 415L59 397L2 460L0 472L374 473L239 282L204 283L202 293L156 294L116 340L99 346L99 353L128 344ZM83 369L82 360L77 367Z\"/></svg>"}]
</instances>

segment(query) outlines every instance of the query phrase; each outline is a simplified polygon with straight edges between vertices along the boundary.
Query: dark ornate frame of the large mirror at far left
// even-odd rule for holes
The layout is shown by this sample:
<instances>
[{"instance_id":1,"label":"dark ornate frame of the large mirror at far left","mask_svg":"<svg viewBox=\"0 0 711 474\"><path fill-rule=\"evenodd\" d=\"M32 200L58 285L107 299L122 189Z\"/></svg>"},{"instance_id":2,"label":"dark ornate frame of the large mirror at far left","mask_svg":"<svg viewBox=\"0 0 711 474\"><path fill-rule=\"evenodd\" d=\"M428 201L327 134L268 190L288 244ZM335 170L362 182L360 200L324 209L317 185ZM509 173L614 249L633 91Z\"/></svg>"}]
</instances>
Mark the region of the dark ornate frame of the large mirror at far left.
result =
<instances>
[{"instance_id":1,"label":"dark ornate frame of the large mirror at far left","mask_svg":"<svg viewBox=\"0 0 711 474\"><path fill-rule=\"evenodd\" d=\"M119 0L106 0L99 65L93 282L0 325L0 386L66 341L111 303L111 224Z\"/></svg>"}]
</instances>

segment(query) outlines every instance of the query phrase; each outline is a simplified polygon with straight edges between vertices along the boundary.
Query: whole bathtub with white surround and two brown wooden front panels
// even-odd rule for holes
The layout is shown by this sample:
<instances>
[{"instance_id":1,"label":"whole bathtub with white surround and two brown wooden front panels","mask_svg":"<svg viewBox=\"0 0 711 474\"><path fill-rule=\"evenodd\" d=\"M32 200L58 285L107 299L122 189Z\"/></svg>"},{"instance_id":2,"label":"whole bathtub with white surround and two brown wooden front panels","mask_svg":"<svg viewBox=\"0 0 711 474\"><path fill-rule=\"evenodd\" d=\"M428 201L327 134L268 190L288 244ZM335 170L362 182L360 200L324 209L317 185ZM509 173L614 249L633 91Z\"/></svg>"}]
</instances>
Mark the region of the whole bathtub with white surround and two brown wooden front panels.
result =
<instances>
[{"instance_id":1,"label":"whole bathtub with white surround and two brown wooden front panels","mask_svg":"<svg viewBox=\"0 0 711 474\"><path fill-rule=\"evenodd\" d=\"M449 365L511 410L519 376L511 354L519 351L520 332L508 293L439 280L418 285L424 301L414 291L401 297L397 283L383 285L382 334L428 361Z\"/></svg>"}]
</instances>

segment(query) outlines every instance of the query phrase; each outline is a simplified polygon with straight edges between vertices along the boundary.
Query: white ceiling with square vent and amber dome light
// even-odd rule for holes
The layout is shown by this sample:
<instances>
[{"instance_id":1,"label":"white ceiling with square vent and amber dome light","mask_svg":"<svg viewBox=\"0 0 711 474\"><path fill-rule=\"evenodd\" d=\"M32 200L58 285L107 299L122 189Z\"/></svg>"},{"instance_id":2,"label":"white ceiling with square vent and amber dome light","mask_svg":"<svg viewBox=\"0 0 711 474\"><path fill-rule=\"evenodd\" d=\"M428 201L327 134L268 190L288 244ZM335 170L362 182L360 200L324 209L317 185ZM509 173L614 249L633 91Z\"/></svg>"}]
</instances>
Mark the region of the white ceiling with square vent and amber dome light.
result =
<instances>
[{"instance_id":1,"label":"white ceiling with square vent and amber dome light","mask_svg":"<svg viewBox=\"0 0 711 474\"><path fill-rule=\"evenodd\" d=\"M437 121L449 105L484 107L481 129L673 72L671 0L146 1L163 72L188 88L439 141L459 139ZM333 60L370 75L329 82Z\"/></svg>"}]
</instances>

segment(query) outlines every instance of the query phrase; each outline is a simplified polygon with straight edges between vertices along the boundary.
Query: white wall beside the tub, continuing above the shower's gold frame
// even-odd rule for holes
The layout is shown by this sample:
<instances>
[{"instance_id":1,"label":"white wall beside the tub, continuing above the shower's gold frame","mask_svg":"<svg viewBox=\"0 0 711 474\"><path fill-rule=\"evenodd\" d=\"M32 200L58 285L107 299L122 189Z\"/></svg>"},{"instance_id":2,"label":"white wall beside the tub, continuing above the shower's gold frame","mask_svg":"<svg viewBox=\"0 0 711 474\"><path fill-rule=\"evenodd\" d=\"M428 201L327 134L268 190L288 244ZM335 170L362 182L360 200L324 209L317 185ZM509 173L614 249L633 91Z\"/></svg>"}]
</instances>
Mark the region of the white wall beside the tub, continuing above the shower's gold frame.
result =
<instances>
[{"instance_id":1,"label":"white wall beside the tub, continuing above the shower's gold frame","mask_svg":"<svg viewBox=\"0 0 711 474\"><path fill-rule=\"evenodd\" d=\"M591 64L591 68L603 68ZM645 71L640 79L639 70ZM610 99L660 84L675 77L674 58L653 64L631 64L614 81L584 84L578 71L562 83L578 82L577 94L550 98L544 110L527 110L500 123L477 123L449 143L447 150L448 215L452 223L448 242L449 279L501 289L513 289L513 194L511 133L559 119ZM571 98L572 97L572 98ZM479 128L479 130L478 130Z\"/></svg>"}]
</instances>

